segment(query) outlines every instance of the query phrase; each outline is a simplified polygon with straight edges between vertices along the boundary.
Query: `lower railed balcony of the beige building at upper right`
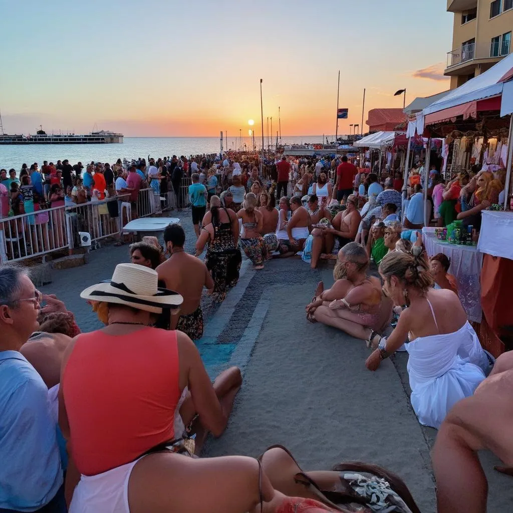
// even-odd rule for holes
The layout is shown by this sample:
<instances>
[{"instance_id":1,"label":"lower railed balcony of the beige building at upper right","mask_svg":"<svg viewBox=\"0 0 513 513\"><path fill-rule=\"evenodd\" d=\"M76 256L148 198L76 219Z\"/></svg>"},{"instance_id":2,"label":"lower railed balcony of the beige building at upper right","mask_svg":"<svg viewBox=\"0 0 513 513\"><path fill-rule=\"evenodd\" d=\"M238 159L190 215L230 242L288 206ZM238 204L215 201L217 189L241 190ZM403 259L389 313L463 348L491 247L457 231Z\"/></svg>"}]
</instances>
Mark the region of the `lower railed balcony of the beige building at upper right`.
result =
<instances>
[{"instance_id":1,"label":"lower railed balcony of the beige building at upper right","mask_svg":"<svg viewBox=\"0 0 513 513\"><path fill-rule=\"evenodd\" d=\"M478 64L494 65L511 51L510 43L483 43L464 45L447 53L444 75L465 75Z\"/></svg>"}]
</instances>

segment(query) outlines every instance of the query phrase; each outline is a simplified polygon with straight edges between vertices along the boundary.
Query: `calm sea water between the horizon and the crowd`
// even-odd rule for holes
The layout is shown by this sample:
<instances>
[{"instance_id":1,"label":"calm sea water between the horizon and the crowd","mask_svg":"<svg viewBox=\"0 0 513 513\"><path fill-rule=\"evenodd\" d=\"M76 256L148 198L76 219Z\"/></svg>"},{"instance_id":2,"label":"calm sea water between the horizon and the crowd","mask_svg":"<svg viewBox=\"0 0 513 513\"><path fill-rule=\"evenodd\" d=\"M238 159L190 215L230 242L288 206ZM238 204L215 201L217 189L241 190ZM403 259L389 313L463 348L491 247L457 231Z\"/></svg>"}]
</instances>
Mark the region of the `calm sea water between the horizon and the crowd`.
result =
<instances>
[{"instance_id":1,"label":"calm sea water between the horizon and the crowd","mask_svg":"<svg viewBox=\"0 0 513 513\"><path fill-rule=\"evenodd\" d=\"M326 137L326 136L325 136ZM327 135L330 141L334 140L333 135ZM275 143L274 139L274 143ZM322 144L322 135L282 135L282 144ZM242 144L241 144L242 143ZM262 136L255 134L255 144L262 148ZM264 145L267 148L268 140L264 136ZM273 141L269 139L272 147ZM251 148L253 143L251 137L228 137L228 148L238 150ZM223 141L226 150L226 138ZM216 153L221 148L220 137L124 137L123 144L34 144L34 145L0 145L0 169L10 168L19 171L22 164L37 162L41 167L43 161L56 163L58 160L68 159L71 164L82 162L86 164L91 161L114 163L117 159L137 159L137 157L148 158L163 157L171 155L198 155L201 153Z\"/></svg>"}]
</instances>

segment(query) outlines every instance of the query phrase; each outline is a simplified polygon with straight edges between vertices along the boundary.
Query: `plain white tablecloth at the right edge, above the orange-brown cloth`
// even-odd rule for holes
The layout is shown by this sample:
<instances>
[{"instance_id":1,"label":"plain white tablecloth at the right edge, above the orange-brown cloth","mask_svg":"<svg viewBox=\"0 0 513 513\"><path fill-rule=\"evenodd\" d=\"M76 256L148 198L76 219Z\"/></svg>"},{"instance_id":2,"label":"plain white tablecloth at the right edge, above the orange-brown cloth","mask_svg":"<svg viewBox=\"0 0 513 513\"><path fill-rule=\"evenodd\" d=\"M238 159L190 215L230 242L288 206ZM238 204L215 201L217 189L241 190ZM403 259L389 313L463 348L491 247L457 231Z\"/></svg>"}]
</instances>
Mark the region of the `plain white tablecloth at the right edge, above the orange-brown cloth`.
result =
<instances>
[{"instance_id":1,"label":"plain white tablecloth at the right edge, above the orange-brown cloth","mask_svg":"<svg viewBox=\"0 0 513 513\"><path fill-rule=\"evenodd\" d=\"M481 212L478 251L513 260L513 212Z\"/></svg>"}]
</instances>

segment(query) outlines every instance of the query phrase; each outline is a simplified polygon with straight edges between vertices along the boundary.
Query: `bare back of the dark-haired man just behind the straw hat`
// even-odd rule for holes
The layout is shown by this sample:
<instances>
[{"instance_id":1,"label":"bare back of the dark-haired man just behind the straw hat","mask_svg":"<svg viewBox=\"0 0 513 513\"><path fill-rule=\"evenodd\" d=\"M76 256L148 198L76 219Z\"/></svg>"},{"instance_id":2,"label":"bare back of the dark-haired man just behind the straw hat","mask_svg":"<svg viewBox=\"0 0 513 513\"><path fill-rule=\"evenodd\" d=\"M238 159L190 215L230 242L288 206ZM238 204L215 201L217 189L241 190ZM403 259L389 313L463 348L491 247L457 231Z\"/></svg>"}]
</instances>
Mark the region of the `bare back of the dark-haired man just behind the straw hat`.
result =
<instances>
[{"instance_id":1,"label":"bare back of the dark-haired man just behind the straw hat","mask_svg":"<svg viewBox=\"0 0 513 513\"><path fill-rule=\"evenodd\" d=\"M200 259L185 252L173 254L156 271L166 288L183 296L181 314L195 311L200 306L203 287L211 288L209 285L212 279L207 266Z\"/></svg>"}]
</instances>

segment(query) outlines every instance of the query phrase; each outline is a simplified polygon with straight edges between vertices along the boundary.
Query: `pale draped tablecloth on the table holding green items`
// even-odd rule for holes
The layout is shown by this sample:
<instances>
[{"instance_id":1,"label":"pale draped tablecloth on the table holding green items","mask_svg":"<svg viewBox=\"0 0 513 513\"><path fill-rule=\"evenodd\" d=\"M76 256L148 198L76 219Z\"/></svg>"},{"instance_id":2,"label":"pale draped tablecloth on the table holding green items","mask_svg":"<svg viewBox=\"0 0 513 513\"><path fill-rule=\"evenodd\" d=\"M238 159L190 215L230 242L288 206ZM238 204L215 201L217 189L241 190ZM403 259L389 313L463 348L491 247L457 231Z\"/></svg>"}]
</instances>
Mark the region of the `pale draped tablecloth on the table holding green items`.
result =
<instances>
[{"instance_id":1,"label":"pale draped tablecloth on the table holding green items","mask_svg":"<svg viewBox=\"0 0 513 513\"><path fill-rule=\"evenodd\" d=\"M429 257L443 253L450 258L449 274L458 280L458 295L469 321L481 322L481 268L483 255L476 246L461 246L439 241L436 236L422 234Z\"/></svg>"}]
</instances>

